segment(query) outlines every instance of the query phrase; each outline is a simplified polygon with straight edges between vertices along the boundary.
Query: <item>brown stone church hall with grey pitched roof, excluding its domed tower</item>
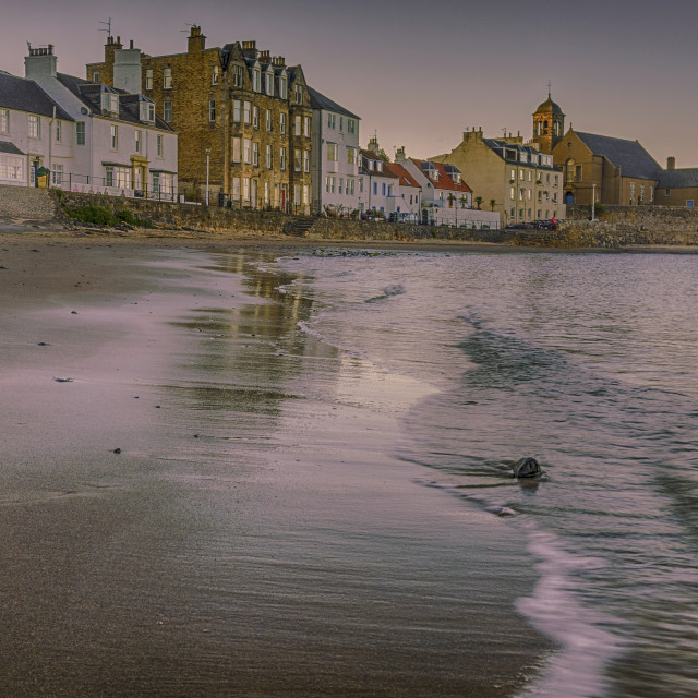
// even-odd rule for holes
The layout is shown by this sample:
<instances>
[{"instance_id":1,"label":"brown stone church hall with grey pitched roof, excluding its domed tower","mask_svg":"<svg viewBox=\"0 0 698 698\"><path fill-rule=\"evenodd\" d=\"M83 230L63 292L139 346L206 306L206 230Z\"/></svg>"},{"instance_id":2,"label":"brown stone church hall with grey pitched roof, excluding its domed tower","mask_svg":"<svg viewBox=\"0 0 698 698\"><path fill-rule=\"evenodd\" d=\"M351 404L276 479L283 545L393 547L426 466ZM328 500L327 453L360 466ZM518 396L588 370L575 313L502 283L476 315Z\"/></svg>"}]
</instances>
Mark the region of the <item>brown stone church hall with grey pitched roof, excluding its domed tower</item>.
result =
<instances>
[{"instance_id":1,"label":"brown stone church hall with grey pitched roof, excluding its domed tower","mask_svg":"<svg viewBox=\"0 0 698 698\"><path fill-rule=\"evenodd\" d=\"M635 206L654 203L661 167L638 141L575 131L571 127L553 148L564 171L566 204Z\"/></svg>"}]
</instances>

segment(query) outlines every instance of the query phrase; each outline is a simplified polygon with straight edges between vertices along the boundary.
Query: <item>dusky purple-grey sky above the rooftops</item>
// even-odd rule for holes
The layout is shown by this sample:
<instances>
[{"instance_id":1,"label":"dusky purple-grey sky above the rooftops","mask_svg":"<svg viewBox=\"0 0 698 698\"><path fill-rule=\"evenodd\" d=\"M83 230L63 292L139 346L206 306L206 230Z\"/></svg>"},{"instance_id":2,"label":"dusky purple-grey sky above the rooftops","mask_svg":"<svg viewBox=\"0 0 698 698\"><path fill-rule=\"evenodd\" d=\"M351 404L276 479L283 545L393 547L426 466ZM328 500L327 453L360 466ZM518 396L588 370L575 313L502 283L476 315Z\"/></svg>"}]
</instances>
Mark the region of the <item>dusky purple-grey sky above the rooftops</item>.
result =
<instances>
[{"instance_id":1,"label":"dusky purple-grey sky above the rooftops","mask_svg":"<svg viewBox=\"0 0 698 698\"><path fill-rule=\"evenodd\" d=\"M5 7L7 5L7 7ZM180 7L181 5L181 7ZM0 0L0 70L24 74L27 41L60 72L104 57L106 24L151 55L256 40L361 117L390 156L450 152L462 132L531 137L552 97L565 129L638 140L664 166L698 167L696 0Z\"/></svg>"}]
</instances>

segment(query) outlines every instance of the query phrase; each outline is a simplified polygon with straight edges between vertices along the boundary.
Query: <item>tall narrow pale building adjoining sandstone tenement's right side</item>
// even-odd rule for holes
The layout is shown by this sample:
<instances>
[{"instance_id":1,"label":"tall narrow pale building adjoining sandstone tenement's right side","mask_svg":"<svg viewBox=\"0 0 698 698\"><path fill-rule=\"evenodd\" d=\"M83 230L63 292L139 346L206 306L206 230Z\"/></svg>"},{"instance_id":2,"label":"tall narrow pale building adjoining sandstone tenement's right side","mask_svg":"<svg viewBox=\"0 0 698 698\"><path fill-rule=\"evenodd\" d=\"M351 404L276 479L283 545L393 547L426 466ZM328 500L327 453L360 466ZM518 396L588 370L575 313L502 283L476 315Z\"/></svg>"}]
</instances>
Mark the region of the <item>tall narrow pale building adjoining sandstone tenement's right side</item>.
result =
<instances>
[{"instance_id":1,"label":"tall narrow pale building adjoining sandstone tenement's right side","mask_svg":"<svg viewBox=\"0 0 698 698\"><path fill-rule=\"evenodd\" d=\"M359 209L361 119L312 87L312 209L346 216Z\"/></svg>"}]
</instances>

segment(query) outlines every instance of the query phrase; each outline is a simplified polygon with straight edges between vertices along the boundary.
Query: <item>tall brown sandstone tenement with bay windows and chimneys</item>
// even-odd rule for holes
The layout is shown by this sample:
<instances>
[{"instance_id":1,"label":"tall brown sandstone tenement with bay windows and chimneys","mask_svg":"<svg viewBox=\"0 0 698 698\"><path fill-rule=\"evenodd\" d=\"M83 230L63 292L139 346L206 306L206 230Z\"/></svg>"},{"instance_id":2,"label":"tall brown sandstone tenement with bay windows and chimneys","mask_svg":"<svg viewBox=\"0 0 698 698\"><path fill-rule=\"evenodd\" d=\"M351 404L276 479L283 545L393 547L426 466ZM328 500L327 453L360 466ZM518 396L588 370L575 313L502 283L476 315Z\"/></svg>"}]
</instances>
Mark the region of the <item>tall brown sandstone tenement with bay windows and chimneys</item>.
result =
<instances>
[{"instance_id":1,"label":"tall brown sandstone tenement with bay windows and chimneys","mask_svg":"<svg viewBox=\"0 0 698 698\"><path fill-rule=\"evenodd\" d=\"M255 41L148 56L108 37L89 80L143 92L179 133L180 192L249 208L309 212L312 109L303 71Z\"/></svg>"}]
</instances>

